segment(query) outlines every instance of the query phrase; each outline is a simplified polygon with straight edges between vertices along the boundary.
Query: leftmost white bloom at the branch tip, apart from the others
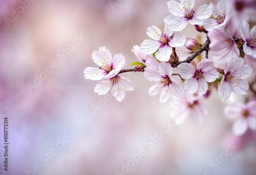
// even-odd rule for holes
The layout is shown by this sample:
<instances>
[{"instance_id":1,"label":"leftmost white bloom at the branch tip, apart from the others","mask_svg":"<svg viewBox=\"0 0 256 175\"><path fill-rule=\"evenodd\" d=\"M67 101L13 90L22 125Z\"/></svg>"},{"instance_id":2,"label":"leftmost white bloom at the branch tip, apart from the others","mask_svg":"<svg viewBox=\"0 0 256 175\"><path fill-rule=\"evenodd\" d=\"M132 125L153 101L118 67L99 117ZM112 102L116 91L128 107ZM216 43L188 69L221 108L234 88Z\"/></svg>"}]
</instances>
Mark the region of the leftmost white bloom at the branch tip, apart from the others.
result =
<instances>
[{"instance_id":1,"label":"leftmost white bloom at the branch tip, apart from the others","mask_svg":"<svg viewBox=\"0 0 256 175\"><path fill-rule=\"evenodd\" d=\"M94 92L104 95L111 90L111 94L121 101L125 96L125 91L134 90L133 83L129 79L117 75L125 64L122 54L115 54L112 58L108 49L100 47L99 51L93 52L92 58L100 68L86 68L83 72L84 77L91 80L106 78L95 86Z\"/></svg>"}]
</instances>

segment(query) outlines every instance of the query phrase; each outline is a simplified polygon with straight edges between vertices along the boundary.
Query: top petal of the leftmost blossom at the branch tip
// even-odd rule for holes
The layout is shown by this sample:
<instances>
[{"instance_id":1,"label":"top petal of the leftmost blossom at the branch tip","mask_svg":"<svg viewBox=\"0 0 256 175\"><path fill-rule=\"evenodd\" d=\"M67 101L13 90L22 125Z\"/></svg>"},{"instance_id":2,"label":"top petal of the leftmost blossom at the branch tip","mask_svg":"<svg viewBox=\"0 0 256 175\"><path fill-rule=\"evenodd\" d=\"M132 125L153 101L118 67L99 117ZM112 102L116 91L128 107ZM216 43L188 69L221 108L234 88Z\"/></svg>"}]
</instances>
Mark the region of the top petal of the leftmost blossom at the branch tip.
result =
<instances>
[{"instance_id":1,"label":"top petal of the leftmost blossom at the branch tip","mask_svg":"<svg viewBox=\"0 0 256 175\"><path fill-rule=\"evenodd\" d=\"M103 63L108 64L109 67L111 66L112 55L110 51L105 47L100 47L99 51L93 51L92 58L93 58L93 61L100 67L102 67Z\"/></svg>"}]
</instances>

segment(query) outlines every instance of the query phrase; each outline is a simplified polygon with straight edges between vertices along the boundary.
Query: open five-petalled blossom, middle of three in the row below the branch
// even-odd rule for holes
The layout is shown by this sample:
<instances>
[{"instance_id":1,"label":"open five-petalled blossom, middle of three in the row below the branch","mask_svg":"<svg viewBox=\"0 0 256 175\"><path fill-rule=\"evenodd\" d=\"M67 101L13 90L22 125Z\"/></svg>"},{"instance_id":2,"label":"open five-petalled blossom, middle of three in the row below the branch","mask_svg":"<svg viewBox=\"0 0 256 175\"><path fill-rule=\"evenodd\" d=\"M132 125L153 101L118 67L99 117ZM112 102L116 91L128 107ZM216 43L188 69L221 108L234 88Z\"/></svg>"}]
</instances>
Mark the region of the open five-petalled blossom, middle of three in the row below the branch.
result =
<instances>
[{"instance_id":1,"label":"open five-petalled blossom, middle of three in the row below the branch","mask_svg":"<svg viewBox=\"0 0 256 175\"><path fill-rule=\"evenodd\" d=\"M209 59L203 59L198 63L195 69L189 63L178 65L178 73L183 79L187 79L184 85L184 91L188 94L197 93L204 95L208 89L207 82L215 81L220 73L214 69L214 63Z\"/></svg>"}]
</instances>

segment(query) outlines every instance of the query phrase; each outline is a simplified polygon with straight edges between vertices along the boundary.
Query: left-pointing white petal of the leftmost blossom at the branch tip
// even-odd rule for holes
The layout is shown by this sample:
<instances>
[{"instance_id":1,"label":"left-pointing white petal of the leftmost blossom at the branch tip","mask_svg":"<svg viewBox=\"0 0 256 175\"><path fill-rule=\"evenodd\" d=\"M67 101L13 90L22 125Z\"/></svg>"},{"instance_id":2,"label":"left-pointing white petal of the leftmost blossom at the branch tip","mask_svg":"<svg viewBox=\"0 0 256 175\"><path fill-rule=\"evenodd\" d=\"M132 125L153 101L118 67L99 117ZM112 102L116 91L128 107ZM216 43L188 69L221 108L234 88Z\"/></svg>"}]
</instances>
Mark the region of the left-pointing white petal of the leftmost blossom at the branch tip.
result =
<instances>
[{"instance_id":1,"label":"left-pointing white petal of the leftmost blossom at the branch tip","mask_svg":"<svg viewBox=\"0 0 256 175\"><path fill-rule=\"evenodd\" d=\"M106 72L103 69L98 69L98 68L91 68L88 67L84 71L84 78L86 79L91 79L91 80L100 80L102 79L108 72Z\"/></svg>"}]
</instances>

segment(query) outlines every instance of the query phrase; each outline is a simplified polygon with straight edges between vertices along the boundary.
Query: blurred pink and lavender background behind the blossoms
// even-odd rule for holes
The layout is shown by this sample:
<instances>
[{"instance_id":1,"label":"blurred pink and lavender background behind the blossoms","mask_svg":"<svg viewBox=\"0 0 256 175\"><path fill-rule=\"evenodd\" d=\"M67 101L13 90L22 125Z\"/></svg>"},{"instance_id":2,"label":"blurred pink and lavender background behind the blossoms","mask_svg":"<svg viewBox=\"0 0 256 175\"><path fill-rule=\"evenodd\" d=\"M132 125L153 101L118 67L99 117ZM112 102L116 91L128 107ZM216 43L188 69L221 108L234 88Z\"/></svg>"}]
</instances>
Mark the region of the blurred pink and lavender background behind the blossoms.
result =
<instances>
[{"instance_id":1,"label":"blurred pink and lavender background behind the blossoms","mask_svg":"<svg viewBox=\"0 0 256 175\"><path fill-rule=\"evenodd\" d=\"M208 115L202 124L187 119L175 126L169 102L148 95L153 83L142 73L123 74L135 91L126 92L122 102L98 96L98 81L84 79L84 69L95 67L93 51L102 46L112 56L122 53L130 68L137 61L131 49L149 39L146 28L164 28L166 2L0 0L1 175L256 174L255 132L233 136L233 121L223 115L229 102L217 92L204 100ZM196 1L195 9L206 3ZM190 24L180 33L206 37ZM168 122L171 127L159 135ZM158 139L146 144L151 136Z\"/></svg>"}]
</instances>

